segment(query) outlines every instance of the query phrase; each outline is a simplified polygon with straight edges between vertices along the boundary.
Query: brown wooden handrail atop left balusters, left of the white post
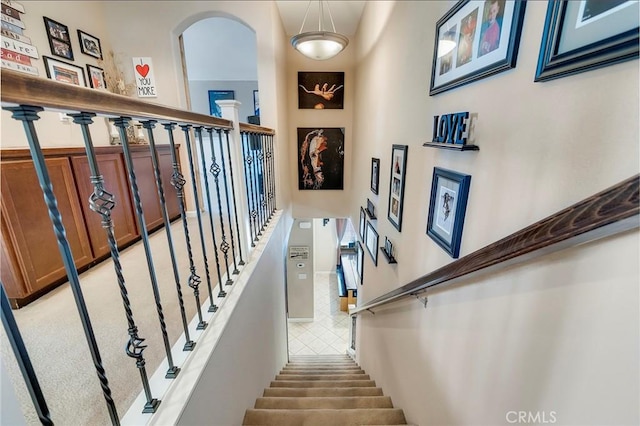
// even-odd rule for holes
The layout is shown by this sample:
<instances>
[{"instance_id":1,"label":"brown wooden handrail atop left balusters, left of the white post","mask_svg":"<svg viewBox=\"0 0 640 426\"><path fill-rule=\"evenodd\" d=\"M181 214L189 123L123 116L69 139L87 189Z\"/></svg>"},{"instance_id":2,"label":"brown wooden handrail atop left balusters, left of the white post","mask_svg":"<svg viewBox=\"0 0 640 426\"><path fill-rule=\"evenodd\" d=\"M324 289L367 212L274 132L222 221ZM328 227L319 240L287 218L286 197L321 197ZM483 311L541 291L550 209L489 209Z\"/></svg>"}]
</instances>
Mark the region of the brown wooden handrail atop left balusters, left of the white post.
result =
<instances>
[{"instance_id":1,"label":"brown wooden handrail atop left balusters, left of the white post","mask_svg":"<svg viewBox=\"0 0 640 426\"><path fill-rule=\"evenodd\" d=\"M140 101L102 90L60 83L17 71L3 69L0 78L2 82L0 96L3 105L31 105L65 112L92 112L113 117L123 116L178 124L233 128L231 121L222 118Z\"/></svg>"}]
</instances>

